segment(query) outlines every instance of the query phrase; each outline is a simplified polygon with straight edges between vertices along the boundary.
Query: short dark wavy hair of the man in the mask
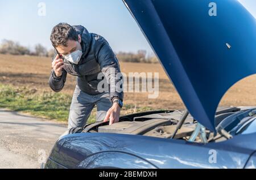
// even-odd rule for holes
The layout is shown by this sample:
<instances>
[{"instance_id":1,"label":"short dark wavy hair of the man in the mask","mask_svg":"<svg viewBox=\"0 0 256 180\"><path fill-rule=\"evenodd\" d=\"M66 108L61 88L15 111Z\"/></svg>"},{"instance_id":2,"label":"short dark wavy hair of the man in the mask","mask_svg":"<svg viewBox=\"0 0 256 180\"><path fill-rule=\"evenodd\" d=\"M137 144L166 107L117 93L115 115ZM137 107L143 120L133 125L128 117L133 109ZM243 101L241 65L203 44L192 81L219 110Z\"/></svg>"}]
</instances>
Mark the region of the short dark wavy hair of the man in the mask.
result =
<instances>
[{"instance_id":1,"label":"short dark wavy hair of the man in the mask","mask_svg":"<svg viewBox=\"0 0 256 180\"><path fill-rule=\"evenodd\" d=\"M50 39L56 48L59 45L67 46L68 40L78 41L78 34L68 23L59 23L53 27Z\"/></svg>"}]
</instances>

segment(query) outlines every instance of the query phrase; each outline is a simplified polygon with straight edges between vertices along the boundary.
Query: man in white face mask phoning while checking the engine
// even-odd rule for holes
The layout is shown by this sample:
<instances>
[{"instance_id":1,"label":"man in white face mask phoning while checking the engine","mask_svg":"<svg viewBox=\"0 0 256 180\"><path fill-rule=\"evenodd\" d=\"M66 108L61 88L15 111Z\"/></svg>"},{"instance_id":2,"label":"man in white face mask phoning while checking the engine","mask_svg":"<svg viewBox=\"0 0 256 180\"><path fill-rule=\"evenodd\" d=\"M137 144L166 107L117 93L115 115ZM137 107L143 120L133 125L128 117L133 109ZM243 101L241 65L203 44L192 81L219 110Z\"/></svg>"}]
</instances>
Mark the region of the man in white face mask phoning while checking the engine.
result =
<instances>
[{"instance_id":1,"label":"man in white face mask phoning while checking the engine","mask_svg":"<svg viewBox=\"0 0 256 180\"><path fill-rule=\"evenodd\" d=\"M59 92L63 89L67 73L77 76L69 111L68 129L84 127L95 105L96 121L107 122L109 119L109 125L118 122L123 92L122 86L116 86L121 79L115 75L120 72L120 68L105 38L89 33L81 25L60 23L52 29L51 42L55 48L49 77L49 86L52 90ZM108 89L114 91L102 92L102 89L98 89L98 83L102 80L98 79L100 73L104 74L103 79L109 82Z\"/></svg>"}]
</instances>

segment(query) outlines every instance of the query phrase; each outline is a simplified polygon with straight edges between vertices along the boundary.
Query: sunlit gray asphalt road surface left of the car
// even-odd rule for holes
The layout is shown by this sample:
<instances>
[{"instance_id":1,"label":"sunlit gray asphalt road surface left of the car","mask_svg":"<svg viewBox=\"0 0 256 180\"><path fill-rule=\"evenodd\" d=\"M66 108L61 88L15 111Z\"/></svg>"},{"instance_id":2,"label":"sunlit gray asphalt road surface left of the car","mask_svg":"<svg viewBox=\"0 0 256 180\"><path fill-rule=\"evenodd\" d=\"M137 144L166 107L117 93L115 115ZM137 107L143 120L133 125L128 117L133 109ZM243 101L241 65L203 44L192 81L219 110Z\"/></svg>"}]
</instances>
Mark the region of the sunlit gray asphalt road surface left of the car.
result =
<instances>
[{"instance_id":1,"label":"sunlit gray asphalt road surface left of the car","mask_svg":"<svg viewBox=\"0 0 256 180\"><path fill-rule=\"evenodd\" d=\"M40 168L65 125L0 109L0 168Z\"/></svg>"}]
</instances>

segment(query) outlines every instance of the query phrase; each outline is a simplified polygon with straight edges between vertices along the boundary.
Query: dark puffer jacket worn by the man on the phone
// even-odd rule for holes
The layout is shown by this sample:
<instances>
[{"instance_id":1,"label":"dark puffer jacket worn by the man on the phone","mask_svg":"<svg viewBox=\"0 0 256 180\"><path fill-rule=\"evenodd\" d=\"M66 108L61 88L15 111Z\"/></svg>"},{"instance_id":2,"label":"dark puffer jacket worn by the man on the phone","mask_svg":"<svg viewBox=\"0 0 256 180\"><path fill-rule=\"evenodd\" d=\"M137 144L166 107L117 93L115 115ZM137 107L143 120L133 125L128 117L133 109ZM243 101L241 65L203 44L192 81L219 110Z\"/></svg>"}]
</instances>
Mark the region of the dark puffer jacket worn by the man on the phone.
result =
<instances>
[{"instance_id":1,"label":"dark puffer jacket worn by the man on the phone","mask_svg":"<svg viewBox=\"0 0 256 180\"><path fill-rule=\"evenodd\" d=\"M64 87L68 73L77 76L77 85L80 87L81 91L88 93L89 95L98 95L101 93L100 89L97 88L98 83L102 80L98 79L98 74L100 72L104 72L104 78L109 82L109 86L120 82L120 78L115 76L120 72L117 57L104 37L96 35L95 33L89 33L85 27L82 27L82 25L73 27L82 37L82 57L78 65L64 59L62 75L58 78L52 70L51 76L49 77L49 86L55 92L61 91ZM55 51L53 59L56 55L57 52ZM104 88L104 85L102 88ZM114 91L112 91L112 87L109 87L108 89L110 101L112 101L114 97L123 100L122 85L119 85L119 87L115 85Z\"/></svg>"}]
</instances>

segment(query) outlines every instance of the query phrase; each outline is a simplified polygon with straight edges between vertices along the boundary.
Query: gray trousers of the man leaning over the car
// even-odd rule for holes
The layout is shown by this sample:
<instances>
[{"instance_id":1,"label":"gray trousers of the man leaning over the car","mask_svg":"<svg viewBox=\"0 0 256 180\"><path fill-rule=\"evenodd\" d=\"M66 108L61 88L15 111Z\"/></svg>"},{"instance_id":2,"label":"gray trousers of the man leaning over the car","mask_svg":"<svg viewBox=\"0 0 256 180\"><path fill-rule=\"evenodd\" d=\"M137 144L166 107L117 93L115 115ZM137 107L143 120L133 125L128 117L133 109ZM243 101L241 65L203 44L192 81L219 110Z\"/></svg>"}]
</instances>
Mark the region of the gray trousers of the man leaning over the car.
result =
<instances>
[{"instance_id":1,"label":"gray trousers of the man leaning over the car","mask_svg":"<svg viewBox=\"0 0 256 180\"><path fill-rule=\"evenodd\" d=\"M76 85L69 110L68 128L84 127L95 105L97 106L96 121L103 121L106 112L112 106L109 93L88 95Z\"/></svg>"}]
</instances>

